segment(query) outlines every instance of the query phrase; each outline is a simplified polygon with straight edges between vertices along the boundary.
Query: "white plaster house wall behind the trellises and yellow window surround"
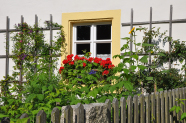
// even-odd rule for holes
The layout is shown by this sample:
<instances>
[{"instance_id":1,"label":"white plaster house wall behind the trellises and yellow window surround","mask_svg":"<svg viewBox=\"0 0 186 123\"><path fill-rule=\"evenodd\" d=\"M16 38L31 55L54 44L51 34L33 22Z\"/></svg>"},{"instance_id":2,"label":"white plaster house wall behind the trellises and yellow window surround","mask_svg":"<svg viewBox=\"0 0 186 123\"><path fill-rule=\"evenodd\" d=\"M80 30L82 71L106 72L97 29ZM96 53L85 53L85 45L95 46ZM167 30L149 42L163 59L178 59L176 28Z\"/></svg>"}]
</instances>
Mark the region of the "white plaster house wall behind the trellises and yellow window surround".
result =
<instances>
[{"instance_id":1,"label":"white plaster house wall behind the trellises and yellow window surround","mask_svg":"<svg viewBox=\"0 0 186 123\"><path fill-rule=\"evenodd\" d=\"M134 11L134 22L149 21L150 7L153 8L152 19L168 20L170 5L173 5L173 19L186 18L185 0L0 0L0 29L6 29L6 16L10 18L10 28L20 23L21 15L24 21L30 25L35 22L35 14L38 15L40 25L53 15L53 22L61 24L62 13L86 12L121 9L121 23L130 22L131 8ZM169 29L168 24L153 25L161 27L161 31ZM136 26L137 27L137 26ZM149 26L146 26L149 27ZM172 36L174 39L186 40L186 24L173 24ZM121 38L129 37L130 27L121 27ZM54 32L55 34L55 32ZM167 33L168 35L169 33ZM142 35L138 34L137 42L141 42ZM49 35L46 36L49 41ZM4 34L0 33L0 55L5 52ZM121 40L121 46L124 41ZM10 43L10 52L13 43ZM164 47L168 51L168 43ZM134 46L133 46L134 51ZM58 63L60 66L60 59ZM14 63L10 59L9 74L12 74ZM167 64L168 67L168 64ZM5 75L5 59L0 59L0 80Z\"/></svg>"}]
</instances>

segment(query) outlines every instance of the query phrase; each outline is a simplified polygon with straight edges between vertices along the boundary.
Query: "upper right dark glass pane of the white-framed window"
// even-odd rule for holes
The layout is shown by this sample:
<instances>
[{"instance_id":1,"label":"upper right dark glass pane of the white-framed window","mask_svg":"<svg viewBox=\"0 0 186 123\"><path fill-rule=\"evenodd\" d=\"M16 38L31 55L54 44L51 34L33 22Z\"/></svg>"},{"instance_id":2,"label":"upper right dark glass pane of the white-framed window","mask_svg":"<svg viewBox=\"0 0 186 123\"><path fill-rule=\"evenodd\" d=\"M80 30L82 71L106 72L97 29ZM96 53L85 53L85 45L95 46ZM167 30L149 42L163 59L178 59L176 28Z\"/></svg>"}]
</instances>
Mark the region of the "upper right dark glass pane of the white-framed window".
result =
<instances>
[{"instance_id":1,"label":"upper right dark glass pane of the white-framed window","mask_svg":"<svg viewBox=\"0 0 186 123\"><path fill-rule=\"evenodd\" d=\"M97 40L111 39L111 24L97 25Z\"/></svg>"}]
</instances>

